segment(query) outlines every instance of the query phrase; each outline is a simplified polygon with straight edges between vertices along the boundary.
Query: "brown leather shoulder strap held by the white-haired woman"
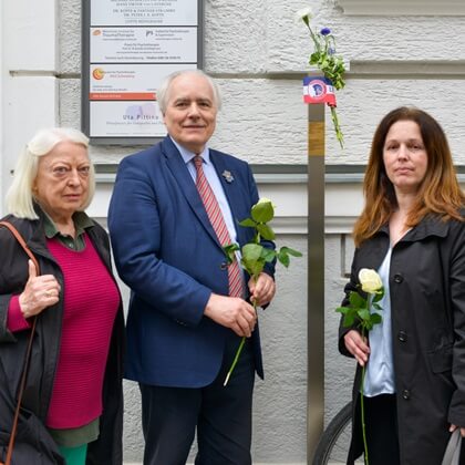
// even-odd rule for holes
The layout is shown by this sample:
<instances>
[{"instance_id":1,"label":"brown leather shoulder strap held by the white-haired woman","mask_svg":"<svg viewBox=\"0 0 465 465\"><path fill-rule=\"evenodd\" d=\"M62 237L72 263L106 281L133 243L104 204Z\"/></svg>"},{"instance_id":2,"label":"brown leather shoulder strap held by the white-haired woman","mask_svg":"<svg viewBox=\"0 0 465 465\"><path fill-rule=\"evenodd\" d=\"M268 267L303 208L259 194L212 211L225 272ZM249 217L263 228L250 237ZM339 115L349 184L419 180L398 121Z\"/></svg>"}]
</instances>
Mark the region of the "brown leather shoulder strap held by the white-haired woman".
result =
<instances>
[{"instance_id":1,"label":"brown leather shoulder strap held by the white-haired woman","mask_svg":"<svg viewBox=\"0 0 465 465\"><path fill-rule=\"evenodd\" d=\"M18 232L18 229L11 223L8 223L8 221L0 221L0 227L8 228L10 232L16 237L20 246L24 249L28 257L34 264L35 269L38 271L38 276L39 276L40 275L39 262L37 258L34 257L34 255L32 254L31 249L25 244L22 236ZM24 364L22 369L21 381L20 381L20 385L18 390L18 400L17 400L17 407L14 409L13 424L11 426L10 440L8 442L7 456L6 456L4 463L0 462L0 465L11 465L11 456L13 454L14 438L17 436L17 431L18 431L18 421L19 421L19 414L20 414L20 409L21 409L22 395L24 393L25 381L28 379L29 362L31 360L31 349L32 349L32 340L35 333L35 323L37 323L37 317L33 317L32 323L31 323L31 333L29 335L28 348L27 348L25 356L24 356Z\"/></svg>"}]
</instances>

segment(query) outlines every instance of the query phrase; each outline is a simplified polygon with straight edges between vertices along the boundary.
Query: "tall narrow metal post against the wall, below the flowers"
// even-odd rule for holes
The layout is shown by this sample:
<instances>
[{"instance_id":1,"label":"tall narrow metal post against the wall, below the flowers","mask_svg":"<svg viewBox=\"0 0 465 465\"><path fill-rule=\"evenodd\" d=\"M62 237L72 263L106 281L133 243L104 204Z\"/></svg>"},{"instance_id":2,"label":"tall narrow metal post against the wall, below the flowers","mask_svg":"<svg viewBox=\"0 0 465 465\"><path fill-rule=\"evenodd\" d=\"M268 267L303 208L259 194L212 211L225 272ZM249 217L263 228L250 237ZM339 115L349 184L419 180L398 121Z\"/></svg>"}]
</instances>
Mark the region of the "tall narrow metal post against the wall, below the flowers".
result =
<instances>
[{"instance_id":1,"label":"tall narrow metal post against the wall, below the flowers","mask_svg":"<svg viewBox=\"0 0 465 465\"><path fill-rule=\"evenodd\" d=\"M309 105L307 462L324 416L324 104Z\"/></svg>"}]
</instances>

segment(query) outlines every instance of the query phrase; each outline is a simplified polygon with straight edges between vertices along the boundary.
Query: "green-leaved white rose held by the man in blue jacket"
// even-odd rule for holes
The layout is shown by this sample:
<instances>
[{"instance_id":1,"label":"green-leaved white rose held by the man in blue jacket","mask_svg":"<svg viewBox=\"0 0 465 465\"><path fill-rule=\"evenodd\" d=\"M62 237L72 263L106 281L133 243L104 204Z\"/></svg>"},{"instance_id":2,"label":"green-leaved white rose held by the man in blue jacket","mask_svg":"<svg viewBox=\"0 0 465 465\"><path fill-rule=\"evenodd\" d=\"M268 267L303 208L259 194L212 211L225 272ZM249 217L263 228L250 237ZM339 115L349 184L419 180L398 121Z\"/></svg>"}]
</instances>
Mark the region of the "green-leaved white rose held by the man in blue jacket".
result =
<instances>
[{"instance_id":1,"label":"green-leaved white rose held by the man in blue jacket","mask_svg":"<svg viewBox=\"0 0 465 465\"><path fill-rule=\"evenodd\" d=\"M290 256L302 256L301 252L289 247L281 247L279 250L275 250L264 247L260 244L261 238L266 240L275 239L275 231L268 225L268 223L271 221L273 217L275 206L272 205L271 200L265 197L260 198L258 203L251 207L250 218L242 219L239 223L240 226L255 229L254 238L248 244L244 245L241 249L237 244L230 244L223 248L225 250L228 264L232 264L234 260L237 259L236 251L240 250L240 264L255 281L257 281L258 277L264 270L265 264L270 264L275 260L278 260L287 268L290 264ZM251 303L257 311L257 303L255 301ZM240 352L242 351L245 342L246 338L242 337L231 366L228 371L228 374L226 375L224 383L225 386L228 384L229 378L237 364L237 361L239 360Z\"/></svg>"}]
</instances>

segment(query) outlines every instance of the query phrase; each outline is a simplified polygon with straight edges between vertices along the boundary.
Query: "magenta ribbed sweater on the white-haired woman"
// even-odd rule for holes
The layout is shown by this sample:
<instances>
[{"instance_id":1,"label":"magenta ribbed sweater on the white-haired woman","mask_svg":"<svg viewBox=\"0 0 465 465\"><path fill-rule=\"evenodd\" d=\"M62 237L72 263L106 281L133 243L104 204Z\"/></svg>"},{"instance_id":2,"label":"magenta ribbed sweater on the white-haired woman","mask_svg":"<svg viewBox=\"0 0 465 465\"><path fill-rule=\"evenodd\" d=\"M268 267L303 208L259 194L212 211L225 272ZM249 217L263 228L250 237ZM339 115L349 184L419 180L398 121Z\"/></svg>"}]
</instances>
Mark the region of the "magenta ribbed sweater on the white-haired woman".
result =
<instances>
[{"instance_id":1,"label":"magenta ribbed sweater on the white-haired woman","mask_svg":"<svg viewBox=\"0 0 465 465\"><path fill-rule=\"evenodd\" d=\"M56 239L48 239L48 247L63 271L64 311L46 425L79 427L102 413L103 378L120 294L87 235L82 251L70 250Z\"/></svg>"}]
</instances>

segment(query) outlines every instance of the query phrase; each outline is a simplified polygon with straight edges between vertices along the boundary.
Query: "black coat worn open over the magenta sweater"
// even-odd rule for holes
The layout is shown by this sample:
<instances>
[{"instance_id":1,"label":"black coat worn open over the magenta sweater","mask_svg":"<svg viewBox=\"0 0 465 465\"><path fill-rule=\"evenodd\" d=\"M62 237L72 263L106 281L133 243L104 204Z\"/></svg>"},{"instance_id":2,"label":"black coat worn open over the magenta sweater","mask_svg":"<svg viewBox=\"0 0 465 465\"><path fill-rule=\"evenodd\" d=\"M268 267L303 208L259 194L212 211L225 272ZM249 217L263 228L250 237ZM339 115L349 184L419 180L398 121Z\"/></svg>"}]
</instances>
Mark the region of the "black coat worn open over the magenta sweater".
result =
<instances>
[{"instance_id":1,"label":"black coat worn open over the magenta sweater","mask_svg":"<svg viewBox=\"0 0 465 465\"><path fill-rule=\"evenodd\" d=\"M46 248L42 217L39 220L27 220L7 216L4 219L12 223L21 232L38 258L41 273L55 276L63 288L61 269ZM106 268L112 272L110 245L105 230L95 224L86 229L86 232ZM22 292L28 280L28 257L11 232L3 227L0 228L0 458L4 458L2 450L11 430L16 393L30 332L21 331L12 334L7 329L7 312L11 294ZM38 317L13 454L14 465L63 464L54 442L44 427L59 356L62 317L62 299ZM89 444L87 465L120 465L123 462L123 341L124 318L120 303L105 371L100 437Z\"/></svg>"}]
</instances>

